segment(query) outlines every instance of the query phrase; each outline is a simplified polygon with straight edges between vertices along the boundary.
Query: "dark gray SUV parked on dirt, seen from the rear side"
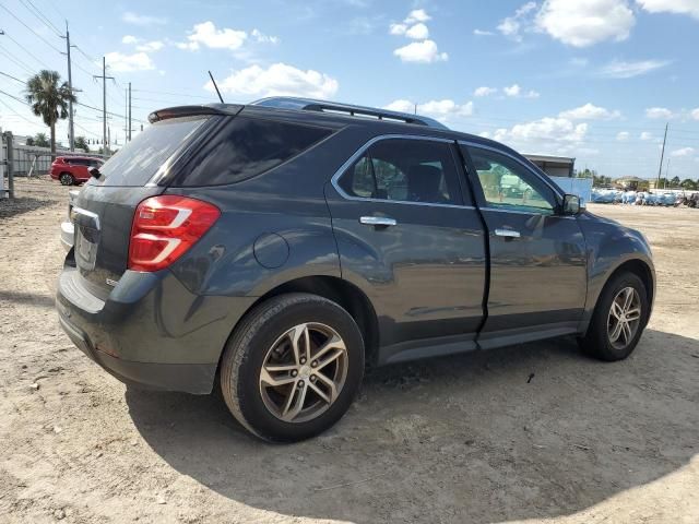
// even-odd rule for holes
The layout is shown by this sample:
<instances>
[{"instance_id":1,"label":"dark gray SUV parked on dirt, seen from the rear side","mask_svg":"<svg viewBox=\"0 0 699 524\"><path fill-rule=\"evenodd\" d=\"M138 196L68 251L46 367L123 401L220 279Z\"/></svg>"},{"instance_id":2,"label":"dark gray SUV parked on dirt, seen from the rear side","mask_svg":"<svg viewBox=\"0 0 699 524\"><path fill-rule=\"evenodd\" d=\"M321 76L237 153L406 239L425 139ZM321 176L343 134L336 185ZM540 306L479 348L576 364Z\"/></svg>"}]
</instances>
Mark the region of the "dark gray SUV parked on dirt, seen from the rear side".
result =
<instances>
[{"instance_id":1,"label":"dark gray SUV parked on dirt, seen from the rear side","mask_svg":"<svg viewBox=\"0 0 699 524\"><path fill-rule=\"evenodd\" d=\"M332 426L367 365L559 335L618 360L648 322L643 236L502 144L298 98L150 120L75 200L60 323L127 383L220 382L263 439Z\"/></svg>"}]
</instances>

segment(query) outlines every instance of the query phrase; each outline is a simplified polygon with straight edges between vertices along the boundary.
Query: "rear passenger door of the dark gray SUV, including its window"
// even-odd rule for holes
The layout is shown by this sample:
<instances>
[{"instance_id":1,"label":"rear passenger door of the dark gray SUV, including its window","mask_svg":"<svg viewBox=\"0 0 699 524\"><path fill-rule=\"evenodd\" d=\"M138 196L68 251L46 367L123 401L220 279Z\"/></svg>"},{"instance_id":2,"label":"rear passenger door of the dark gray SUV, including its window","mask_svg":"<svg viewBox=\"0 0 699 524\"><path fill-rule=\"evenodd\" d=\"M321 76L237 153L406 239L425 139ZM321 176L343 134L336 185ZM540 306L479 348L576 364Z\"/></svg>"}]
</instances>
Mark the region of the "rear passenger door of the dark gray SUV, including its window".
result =
<instances>
[{"instance_id":1,"label":"rear passenger door of the dark gray SUV, including its window","mask_svg":"<svg viewBox=\"0 0 699 524\"><path fill-rule=\"evenodd\" d=\"M383 360L407 341L473 341L483 320L485 236L457 158L447 140L378 138L327 186L342 275L371 300Z\"/></svg>"}]
</instances>

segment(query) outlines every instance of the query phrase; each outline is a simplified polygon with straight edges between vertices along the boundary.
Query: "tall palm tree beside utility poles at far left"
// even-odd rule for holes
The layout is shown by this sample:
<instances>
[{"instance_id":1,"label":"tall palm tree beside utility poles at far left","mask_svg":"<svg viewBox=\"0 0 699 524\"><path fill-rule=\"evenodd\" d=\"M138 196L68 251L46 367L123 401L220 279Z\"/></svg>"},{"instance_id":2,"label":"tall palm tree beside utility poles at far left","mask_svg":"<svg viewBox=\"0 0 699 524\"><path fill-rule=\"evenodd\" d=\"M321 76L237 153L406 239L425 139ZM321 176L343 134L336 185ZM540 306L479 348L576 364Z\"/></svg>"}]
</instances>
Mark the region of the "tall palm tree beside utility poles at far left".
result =
<instances>
[{"instance_id":1,"label":"tall palm tree beside utility poles at far left","mask_svg":"<svg viewBox=\"0 0 699 524\"><path fill-rule=\"evenodd\" d=\"M51 153L56 153L56 122L59 118L68 118L68 103L78 102L75 95L68 87L68 82L61 83L58 71L45 69L27 81L26 102L34 115L42 117L51 129Z\"/></svg>"}]
</instances>

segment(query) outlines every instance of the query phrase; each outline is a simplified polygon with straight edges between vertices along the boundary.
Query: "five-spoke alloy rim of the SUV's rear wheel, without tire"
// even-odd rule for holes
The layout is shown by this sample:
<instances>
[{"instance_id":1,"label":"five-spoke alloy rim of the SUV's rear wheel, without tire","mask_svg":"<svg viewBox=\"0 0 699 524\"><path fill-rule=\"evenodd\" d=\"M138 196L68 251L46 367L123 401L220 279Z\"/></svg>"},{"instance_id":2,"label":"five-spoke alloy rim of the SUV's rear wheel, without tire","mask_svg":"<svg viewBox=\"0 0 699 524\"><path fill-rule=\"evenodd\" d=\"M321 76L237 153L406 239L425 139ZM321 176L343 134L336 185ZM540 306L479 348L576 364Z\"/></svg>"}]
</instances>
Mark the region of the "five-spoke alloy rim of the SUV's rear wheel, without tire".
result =
<instances>
[{"instance_id":1,"label":"five-spoke alloy rim of the SUV's rear wheel, without tire","mask_svg":"<svg viewBox=\"0 0 699 524\"><path fill-rule=\"evenodd\" d=\"M344 341L329 325L295 325L269 348L260 370L268 410L286 422L306 422L335 402L347 377Z\"/></svg>"}]
</instances>

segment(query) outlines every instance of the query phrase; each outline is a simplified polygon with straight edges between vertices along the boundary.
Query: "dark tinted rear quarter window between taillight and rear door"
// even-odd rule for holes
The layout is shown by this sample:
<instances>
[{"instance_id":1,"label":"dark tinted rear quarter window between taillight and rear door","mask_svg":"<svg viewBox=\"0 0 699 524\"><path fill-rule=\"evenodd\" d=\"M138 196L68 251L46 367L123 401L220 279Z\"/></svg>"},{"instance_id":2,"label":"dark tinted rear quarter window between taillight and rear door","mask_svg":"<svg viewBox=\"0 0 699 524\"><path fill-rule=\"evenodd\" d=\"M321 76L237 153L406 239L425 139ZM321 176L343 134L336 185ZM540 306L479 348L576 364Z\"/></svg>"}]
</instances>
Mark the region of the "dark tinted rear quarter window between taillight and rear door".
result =
<instances>
[{"instance_id":1,"label":"dark tinted rear quarter window between taillight and rear door","mask_svg":"<svg viewBox=\"0 0 699 524\"><path fill-rule=\"evenodd\" d=\"M332 131L235 117L202 145L180 186L221 186L260 175L320 142Z\"/></svg>"}]
</instances>

